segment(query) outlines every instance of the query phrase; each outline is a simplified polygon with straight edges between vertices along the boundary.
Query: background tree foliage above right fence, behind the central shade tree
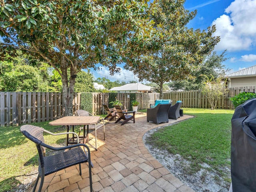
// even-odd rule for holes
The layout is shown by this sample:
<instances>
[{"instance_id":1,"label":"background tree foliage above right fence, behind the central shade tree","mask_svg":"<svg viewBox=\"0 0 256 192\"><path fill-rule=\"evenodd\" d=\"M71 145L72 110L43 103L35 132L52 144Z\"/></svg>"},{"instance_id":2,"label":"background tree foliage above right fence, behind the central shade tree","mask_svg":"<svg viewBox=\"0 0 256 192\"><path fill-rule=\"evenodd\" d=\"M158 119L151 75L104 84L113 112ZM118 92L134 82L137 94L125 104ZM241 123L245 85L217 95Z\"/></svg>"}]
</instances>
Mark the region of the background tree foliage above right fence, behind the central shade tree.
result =
<instances>
[{"instance_id":1,"label":"background tree foliage above right fence, behind the central shade tree","mask_svg":"<svg viewBox=\"0 0 256 192\"><path fill-rule=\"evenodd\" d=\"M214 79L224 77L229 71L223 64L227 60L225 52L220 55L213 52L210 56L206 56L204 62L198 65L198 70L191 72L191 78L174 80L168 85L172 90L199 90L204 87L205 77L202 75L206 75L208 78L213 76Z\"/></svg>"}]
</instances>

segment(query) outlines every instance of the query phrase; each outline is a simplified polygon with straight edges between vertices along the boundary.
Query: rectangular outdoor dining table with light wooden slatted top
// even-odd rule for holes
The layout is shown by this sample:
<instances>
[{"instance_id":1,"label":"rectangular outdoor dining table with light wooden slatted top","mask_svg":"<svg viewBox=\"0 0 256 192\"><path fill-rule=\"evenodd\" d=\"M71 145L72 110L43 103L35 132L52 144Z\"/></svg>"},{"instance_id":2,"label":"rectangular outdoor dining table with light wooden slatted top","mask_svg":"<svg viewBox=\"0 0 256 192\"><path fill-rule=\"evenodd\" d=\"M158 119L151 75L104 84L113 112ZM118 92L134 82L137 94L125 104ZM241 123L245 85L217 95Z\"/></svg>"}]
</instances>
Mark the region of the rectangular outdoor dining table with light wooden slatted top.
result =
<instances>
[{"instance_id":1,"label":"rectangular outdoor dining table with light wooden slatted top","mask_svg":"<svg viewBox=\"0 0 256 192\"><path fill-rule=\"evenodd\" d=\"M97 150L94 146L92 146L88 142L88 134L89 134L89 125L95 125L97 124L98 120L100 120L100 116L66 116L59 118L57 120L54 120L52 122L49 122L50 125L62 125L67 127L67 132L69 132L69 126L72 126L72 130L74 132L74 126L75 125L83 125L84 131L83 136L79 137L82 138L84 144L88 143L92 148ZM85 126L87 125L86 135L85 135ZM67 141L66 144L77 144L77 142L74 142L74 135L72 138L69 138L67 134Z\"/></svg>"}]
</instances>

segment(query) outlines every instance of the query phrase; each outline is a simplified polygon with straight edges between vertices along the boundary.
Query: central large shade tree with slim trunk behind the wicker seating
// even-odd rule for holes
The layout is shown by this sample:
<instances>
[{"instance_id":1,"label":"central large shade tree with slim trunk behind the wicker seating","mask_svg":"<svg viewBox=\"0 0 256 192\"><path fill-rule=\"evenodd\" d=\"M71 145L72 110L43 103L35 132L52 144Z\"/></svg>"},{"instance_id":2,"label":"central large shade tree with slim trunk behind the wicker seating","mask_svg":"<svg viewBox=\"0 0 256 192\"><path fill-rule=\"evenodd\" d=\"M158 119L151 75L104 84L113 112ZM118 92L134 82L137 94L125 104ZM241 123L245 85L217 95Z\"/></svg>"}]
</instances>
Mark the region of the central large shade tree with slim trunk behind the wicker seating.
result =
<instances>
[{"instance_id":1,"label":"central large shade tree with slim trunk behind the wicker seating","mask_svg":"<svg viewBox=\"0 0 256 192\"><path fill-rule=\"evenodd\" d=\"M219 41L219 37L212 36L215 26L202 31L186 27L195 17L196 11L184 9L184 2L159 0L156 4L158 12L151 14L150 18L154 21L154 28L164 38L162 46L143 54L140 60L127 59L126 68L133 70L140 80L148 80L160 86L160 98L163 97L164 82L190 76Z\"/></svg>"}]
</instances>

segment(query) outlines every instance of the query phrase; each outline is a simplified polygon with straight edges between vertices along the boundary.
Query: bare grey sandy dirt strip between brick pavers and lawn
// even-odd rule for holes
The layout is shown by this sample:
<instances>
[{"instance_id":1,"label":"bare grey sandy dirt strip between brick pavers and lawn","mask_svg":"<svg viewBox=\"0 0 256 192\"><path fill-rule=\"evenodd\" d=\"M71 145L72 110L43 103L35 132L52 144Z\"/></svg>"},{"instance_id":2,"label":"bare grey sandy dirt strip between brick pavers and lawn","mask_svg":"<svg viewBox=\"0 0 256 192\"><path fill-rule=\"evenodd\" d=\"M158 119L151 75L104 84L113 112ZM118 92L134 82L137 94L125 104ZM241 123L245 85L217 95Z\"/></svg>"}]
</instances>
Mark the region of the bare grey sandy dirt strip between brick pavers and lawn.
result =
<instances>
[{"instance_id":1,"label":"bare grey sandy dirt strip between brick pavers and lawn","mask_svg":"<svg viewBox=\"0 0 256 192\"><path fill-rule=\"evenodd\" d=\"M150 130L143 136L146 148L156 160L196 192L228 192L230 183L221 178L217 172L209 171L210 166L208 164L202 164L201 170L189 175L187 174L187 170L190 169L188 160L183 159L179 154L173 155L166 150L159 150L146 144L148 137L158 129L160 128ZM229 173L230 169L225 168L224 171Z\"/></svg>"}]
</instances>

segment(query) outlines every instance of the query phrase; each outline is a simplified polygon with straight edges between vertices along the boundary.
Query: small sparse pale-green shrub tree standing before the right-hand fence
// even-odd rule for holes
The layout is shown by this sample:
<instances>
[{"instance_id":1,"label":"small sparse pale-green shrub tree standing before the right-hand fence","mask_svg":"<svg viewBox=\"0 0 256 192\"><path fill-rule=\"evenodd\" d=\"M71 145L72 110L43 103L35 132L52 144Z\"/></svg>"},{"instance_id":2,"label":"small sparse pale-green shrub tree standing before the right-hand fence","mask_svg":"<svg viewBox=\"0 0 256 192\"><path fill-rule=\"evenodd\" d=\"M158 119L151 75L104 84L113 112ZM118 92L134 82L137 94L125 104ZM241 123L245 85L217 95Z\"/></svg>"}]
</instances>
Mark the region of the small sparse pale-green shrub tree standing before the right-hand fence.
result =
<instances>
[{"instance_id":1,"label":"small sparse pale-green shrub tree standing before the right-hand fence","mask_svg":"<svg viewBox=\"0 0 256 192\"><path fill-rule=\"evenodd\" d=\"M204 75L204 77L206 78L206 81L202 93L206 95L210 102L211 109L214 110L218 100L228 93L228 88L226 88L226 83L223 82L221 78L215 80L213 77L210 79L208 76Z\"/></svg>"}]
</instances>

